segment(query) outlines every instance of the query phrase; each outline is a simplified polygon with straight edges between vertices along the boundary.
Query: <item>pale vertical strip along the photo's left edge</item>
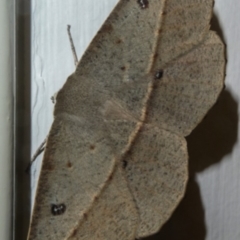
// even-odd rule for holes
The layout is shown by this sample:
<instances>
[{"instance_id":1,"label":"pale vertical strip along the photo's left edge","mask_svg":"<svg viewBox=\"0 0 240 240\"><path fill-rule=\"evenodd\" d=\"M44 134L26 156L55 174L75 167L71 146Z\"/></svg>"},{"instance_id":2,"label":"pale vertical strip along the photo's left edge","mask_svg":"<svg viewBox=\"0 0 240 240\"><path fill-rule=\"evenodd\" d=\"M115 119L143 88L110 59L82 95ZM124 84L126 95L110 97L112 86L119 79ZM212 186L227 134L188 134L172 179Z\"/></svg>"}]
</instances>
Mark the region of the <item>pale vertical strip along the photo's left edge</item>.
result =
<instances>
[{"instance_id":1,"label":"pale vertical strip along the photo's left edge","mask_svg":"<svg viewBox=\"0 0 240 240\"><path fill-rule=\"evenodd\" d=\"M0 0L0 239L11 238L13 150L13 0Z\"/></svg>"}]
</instances>

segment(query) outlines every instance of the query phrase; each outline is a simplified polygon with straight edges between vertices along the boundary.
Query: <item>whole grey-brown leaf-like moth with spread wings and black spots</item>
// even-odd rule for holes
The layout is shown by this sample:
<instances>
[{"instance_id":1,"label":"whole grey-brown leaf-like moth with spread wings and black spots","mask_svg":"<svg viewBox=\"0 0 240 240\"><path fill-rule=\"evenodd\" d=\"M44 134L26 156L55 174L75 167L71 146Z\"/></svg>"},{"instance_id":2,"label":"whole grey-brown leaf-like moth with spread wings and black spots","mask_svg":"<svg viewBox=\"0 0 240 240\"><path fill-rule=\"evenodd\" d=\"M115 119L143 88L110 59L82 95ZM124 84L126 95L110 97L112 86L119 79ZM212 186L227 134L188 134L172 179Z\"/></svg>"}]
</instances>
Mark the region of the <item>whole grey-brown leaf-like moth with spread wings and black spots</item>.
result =
<instances>
[{"instance_id":1,"label":"whole grey-brown leaf-like moth with spread wings and black spots","mask_svg":"<svg viewBox=\"0 0 240 240\"><path fill-rule=\"evenodd\" d=\"M29 240L133 240L182 199L185 136L216 102L213 0L119 0L56 97Z\"/></svg>"}]
</instances>

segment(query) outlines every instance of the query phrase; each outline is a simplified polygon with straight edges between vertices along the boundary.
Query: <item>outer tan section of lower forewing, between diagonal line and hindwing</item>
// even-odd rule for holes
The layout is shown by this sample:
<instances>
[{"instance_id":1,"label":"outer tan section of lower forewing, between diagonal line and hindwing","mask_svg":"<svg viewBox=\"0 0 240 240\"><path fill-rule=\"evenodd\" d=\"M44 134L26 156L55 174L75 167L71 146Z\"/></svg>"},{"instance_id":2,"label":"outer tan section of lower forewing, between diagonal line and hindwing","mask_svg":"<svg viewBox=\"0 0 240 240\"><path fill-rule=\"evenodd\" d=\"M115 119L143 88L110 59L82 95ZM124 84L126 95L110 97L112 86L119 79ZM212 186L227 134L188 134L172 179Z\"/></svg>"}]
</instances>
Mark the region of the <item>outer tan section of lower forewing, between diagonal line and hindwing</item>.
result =
<instances>
[{"instance_id":1,"label":"outer tan section of lower forewing, between diagonal line and hindwing","mask_svg":"<svg viewBox=\"0 0 240 240\"><path fill-rule=\"evenodd\" d=\"M121 167L116 168L92 208L67 240L134 240L138 211Z\"/></svg>"}]
</instances>

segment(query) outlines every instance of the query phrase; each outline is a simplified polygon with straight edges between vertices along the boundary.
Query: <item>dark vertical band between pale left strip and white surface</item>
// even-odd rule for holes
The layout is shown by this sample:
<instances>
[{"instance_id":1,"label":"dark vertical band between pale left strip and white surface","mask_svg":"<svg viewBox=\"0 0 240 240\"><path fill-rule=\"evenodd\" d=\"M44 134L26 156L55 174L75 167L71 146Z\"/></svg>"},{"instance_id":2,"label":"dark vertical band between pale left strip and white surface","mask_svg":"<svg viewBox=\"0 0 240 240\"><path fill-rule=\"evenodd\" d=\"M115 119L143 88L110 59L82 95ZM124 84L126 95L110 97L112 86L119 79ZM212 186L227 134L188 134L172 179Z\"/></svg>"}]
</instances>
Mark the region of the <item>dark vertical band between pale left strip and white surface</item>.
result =
<instances>
[{"instance_id":1,"label":"dark vertical band between pale left strip and white surface","mask_svg":"<svg viewBox=\"0 0 240 240\"><path fill-rule=\"evenodd\" d=\"M13 239L26 239L30 219L31 24L30 0L16 1L15 179Z\"/></svg>"}]
</instances>

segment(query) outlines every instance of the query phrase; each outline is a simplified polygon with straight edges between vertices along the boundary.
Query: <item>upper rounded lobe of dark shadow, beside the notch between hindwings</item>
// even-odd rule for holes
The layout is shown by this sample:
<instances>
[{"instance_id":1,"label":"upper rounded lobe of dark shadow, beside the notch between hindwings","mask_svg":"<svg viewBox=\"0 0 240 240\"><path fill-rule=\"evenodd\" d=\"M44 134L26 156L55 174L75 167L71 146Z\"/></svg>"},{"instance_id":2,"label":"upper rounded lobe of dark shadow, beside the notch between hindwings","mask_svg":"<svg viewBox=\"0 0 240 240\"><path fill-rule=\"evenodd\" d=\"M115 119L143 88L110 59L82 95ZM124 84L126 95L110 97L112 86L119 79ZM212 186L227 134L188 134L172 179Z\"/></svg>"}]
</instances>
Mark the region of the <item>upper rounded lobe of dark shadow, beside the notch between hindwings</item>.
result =
<instances>
[{"instance_id":1,"label":"upper rounded lobe of dark shadow, beside the notch between hindwings","mask_svg":"<svg viewBox=\"0 0 240 240\"><path fill-rule=\"evenodd\" d=\"M224 90L202 123L187 137L190 176L231 153L237 141L238 104Z\"/></svg>"}]
</instances>

